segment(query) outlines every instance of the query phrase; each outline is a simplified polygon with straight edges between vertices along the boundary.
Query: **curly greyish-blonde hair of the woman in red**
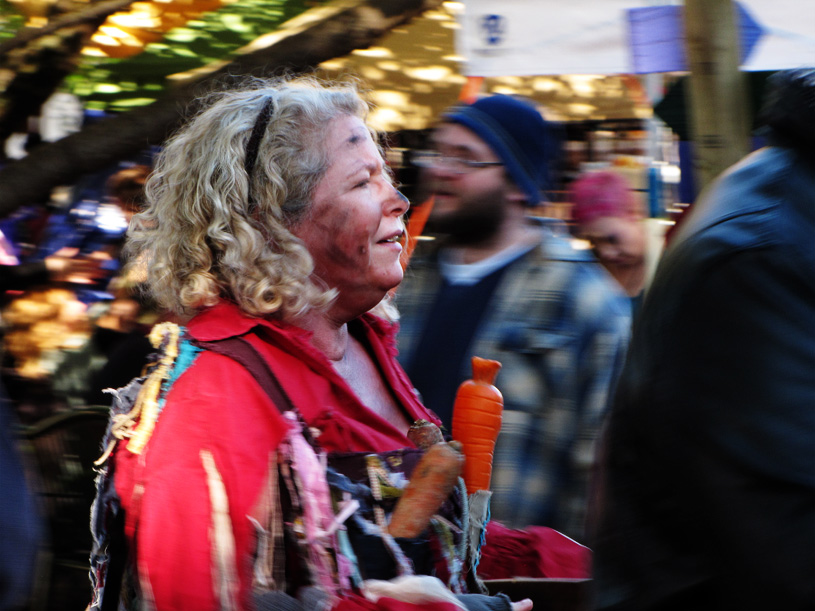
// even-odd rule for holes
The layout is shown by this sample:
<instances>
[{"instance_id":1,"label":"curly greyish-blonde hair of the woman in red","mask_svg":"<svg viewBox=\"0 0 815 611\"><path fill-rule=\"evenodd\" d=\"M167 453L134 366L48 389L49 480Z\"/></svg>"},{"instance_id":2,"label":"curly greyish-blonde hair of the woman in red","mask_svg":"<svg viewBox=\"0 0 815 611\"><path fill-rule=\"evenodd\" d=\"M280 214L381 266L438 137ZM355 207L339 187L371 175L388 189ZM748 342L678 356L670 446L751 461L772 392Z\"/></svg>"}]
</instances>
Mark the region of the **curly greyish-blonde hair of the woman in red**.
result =
<instances>
[{"instance_id":1,"label":"curly greyish-blonde hair of the woman in red","mask_svg":"<svg viewBox=\"0 0 815 611\"><path fill-rule=\"evenodd\" d=\"M367 117L358 84L253 79L210 95L165 143L128 232L126 252L146 266L147 290L182 316L222 298L284 320L327 306L334 291L311 277L311 256L290 228L327 170L328 122ZM257 146L254 169L245 167L247 145Z\"/></svg>"}]
</instances>

